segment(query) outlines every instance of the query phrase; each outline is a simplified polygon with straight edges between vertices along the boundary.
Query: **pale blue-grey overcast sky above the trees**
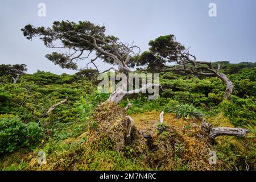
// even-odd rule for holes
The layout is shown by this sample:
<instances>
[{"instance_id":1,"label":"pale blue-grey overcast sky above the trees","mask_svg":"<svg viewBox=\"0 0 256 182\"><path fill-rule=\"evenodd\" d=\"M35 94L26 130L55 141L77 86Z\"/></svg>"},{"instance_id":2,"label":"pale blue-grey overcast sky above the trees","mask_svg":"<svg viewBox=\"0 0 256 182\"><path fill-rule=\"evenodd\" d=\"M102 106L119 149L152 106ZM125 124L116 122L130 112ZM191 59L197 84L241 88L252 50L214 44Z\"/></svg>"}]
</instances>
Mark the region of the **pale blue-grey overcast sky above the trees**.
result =
<instances>
[{"instance_id":1,"label":"pale blue-grey overcast sky above the trees","mask_svg":"<svg viewBox=\"0 0 256 182\"><path fill-rule=\"evenodd\" d=\"M38 4L46 4L46 17L38 16ZM208 15L209 3L216 3L217 17ZM232 63L256 61L255 0L93 0L93 1L1 1L0 63L27 64L28 73L38 69L53 73L74 73L61 69L44 57L52 50L39 39L28 41L20 28L31 23L49 27L55 20L89 20L105 25L107 34L123 42L148 49L149 40L174 34L191 46L198 60ZM80 68L84 67L79 64ZM100 70L109 66L97 61Z\"/></svg>"}]
</instances>

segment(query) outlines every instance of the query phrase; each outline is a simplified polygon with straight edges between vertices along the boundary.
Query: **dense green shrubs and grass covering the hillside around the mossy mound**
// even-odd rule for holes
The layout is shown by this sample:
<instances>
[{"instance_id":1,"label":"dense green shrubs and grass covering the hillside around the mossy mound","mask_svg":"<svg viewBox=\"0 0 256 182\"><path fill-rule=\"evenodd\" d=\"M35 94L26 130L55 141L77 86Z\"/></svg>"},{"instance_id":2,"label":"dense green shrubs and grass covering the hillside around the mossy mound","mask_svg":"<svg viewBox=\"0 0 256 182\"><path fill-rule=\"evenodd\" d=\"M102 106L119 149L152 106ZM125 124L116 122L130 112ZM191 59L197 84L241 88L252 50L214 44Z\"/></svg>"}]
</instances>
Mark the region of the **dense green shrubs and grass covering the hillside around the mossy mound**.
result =
<instances>
[{"instance_id":1,"label":"dense green shrubs and grass covering the hillside around the mossy mound","mask_svg":"<svg viewBox=\"0 0 256 182\"><path fill-rule=\"evenodd\" d=\"M159 115L164 110L187 123L179 126L184 135L192 130L192 121L202 117L214 126L246 127L251 131L246 138L216 138L213 145L219 164L216 169L245 170L249 167L250 170L255 170L255 66L255 63L221 62L221 72L228 74L234 84L232 101L224 99L225 84L217 77L193 77L162 72L160 84L163 90L160 97L150 101L143 94L130 95L129 100L133 106L127 113L136 121L138 118L143 119L143 113L151 111ZM72 159L69 160L73 161L67 161L67 165L77 163L76 167L64 166L61 163L46 169L156 169L154 164L142 163L153 161L150 152L147 153L146 160L145 156L136 153L133 146L126 146L119 151L113 146L113 141L107 139L96 140L90 147L84 146L90 138L89 134L102 127L96 107L109 98L108 94L97 92L96 74L93 70L75 75L55 75L38 71L21 75L16 84L13 84L10 76L1 75L0 168L44 169L36 165L34 159L38 151L45 151L50 162L54 162L55 158L68 160L71 155ZM44 117L49 107L66 97L69 97L67 103L56 107ZM126 105L126 100L119 103L122 107ZM144 121L148 119L145 118ZM139 123L137 127L140 127ZM157 126L157 129L162 130L163 127L167 127L167 130L160 134L162 140L168 138L172 130L169 126ZM175 130L179 134L179 129ZM175 144L176 155L170 156L170 161L174 161L176 166L171 168L197 169L192 164L185 163L187 159L181 157L181 154L186 152L187 146L180 139L177 140L179 144ZM141 148L139 150L144 151ZM160 165L159 169L168 168Z\"/></svg>"}]
</instances>

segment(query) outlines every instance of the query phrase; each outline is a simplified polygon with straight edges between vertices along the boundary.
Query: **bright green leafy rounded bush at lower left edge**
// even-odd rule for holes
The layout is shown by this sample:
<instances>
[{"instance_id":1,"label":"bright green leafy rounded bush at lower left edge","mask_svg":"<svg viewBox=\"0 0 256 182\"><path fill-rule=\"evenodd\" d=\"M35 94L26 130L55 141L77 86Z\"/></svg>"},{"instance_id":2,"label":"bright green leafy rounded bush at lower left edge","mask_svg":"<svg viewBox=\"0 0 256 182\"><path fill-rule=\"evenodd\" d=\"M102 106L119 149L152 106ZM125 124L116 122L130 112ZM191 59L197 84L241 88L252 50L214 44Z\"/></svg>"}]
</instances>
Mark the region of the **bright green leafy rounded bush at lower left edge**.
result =
<instances>
[{"instance_id":1,"label":"bright green leafy rounded bush at lower left edge","mask_svg":"<svg viewBox=\"0 0 256 182\"><path fill-rule=\"evenodd\" d=\"M14 115L0 115L0 153L13 152L20 147L34 147L43 138L37 123L23 123Z\"/></svg>"}]
</instances>

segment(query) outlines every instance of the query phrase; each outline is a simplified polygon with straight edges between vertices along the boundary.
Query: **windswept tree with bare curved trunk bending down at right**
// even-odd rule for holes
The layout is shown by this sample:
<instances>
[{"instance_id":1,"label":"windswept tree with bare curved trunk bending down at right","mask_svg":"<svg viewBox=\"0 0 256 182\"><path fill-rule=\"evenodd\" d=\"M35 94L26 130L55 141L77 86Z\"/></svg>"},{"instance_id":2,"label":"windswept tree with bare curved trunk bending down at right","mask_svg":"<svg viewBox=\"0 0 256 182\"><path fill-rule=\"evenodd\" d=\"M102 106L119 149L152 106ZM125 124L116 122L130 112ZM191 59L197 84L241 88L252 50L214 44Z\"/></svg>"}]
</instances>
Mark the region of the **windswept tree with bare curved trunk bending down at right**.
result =
<instances>
[{"instance_id":1,"label":"windswept tree with bare curved trunk bending down at right","mask_svg":"<svg viewBox=\"0 0 256 182\"><path fill-rule=\"evenodd\" d=\"M174 35L160 36L151 40L149 46L150 51L143 52L137 58L137 66L147 65L147 69L151 71L176 71L194 76L218 77L225 82L225 98L230 100L233 84L224 73L220 72L220 64L218 64L218 68L213 68L211 62L198 61L196 56L189 52L189 48L185 48L176 41Z\"/></svg>"}]
</instances>

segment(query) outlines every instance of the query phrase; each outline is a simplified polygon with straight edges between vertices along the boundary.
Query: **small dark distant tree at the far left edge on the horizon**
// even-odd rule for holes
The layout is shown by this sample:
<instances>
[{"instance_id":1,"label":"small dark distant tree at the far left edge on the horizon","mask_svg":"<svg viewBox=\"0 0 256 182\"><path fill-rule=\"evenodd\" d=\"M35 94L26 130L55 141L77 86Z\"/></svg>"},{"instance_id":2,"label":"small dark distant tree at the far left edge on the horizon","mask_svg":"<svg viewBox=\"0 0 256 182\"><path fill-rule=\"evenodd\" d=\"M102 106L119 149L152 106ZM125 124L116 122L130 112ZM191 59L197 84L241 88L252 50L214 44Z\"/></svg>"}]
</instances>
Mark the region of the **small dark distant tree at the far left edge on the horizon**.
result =
<instances>
[{"instance_id":1,"label":"small dark distant tree at the far left edge on the horizon","mask_svg":"<svg viewBox=\"0 0 256 182\"><path fill-rule=\"evenodd\" d=\"M13 78L13 83L19 80L21 75L26 74L27 65L26 64L1 64L0 65L0 76L11 76Z\"/></svg>"}]
</instances>

